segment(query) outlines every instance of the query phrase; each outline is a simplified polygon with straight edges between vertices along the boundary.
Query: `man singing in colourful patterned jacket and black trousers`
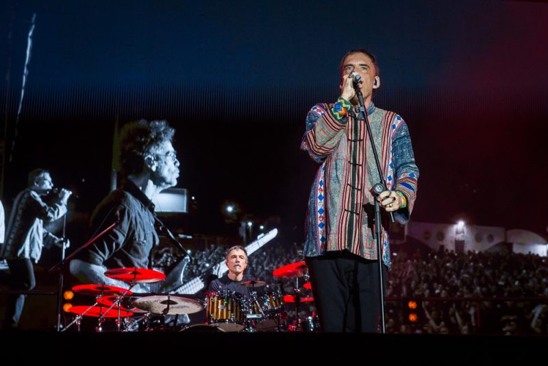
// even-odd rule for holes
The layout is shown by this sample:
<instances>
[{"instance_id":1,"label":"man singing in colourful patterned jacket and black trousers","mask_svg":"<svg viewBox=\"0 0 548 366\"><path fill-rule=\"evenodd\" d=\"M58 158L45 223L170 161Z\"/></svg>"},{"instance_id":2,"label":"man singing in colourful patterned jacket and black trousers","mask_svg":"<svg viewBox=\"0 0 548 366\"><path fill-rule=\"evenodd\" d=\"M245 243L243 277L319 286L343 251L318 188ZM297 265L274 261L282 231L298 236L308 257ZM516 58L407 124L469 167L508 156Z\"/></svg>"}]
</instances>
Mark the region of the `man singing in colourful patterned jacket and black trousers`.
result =
<instances>
[{"instance_id":1,"label":"man singing in colourful patterned jacket and black trousers","mask_svg":"<svg viewBox=\"0 0 548 366\"><path fill-rule=\"evenodd\" d=\"M319 169L308 199L304 255L324 332L377 332L379 325L379 254L371 193L379 176L364 121L355 118L356 88L363 95L387 182L387 190L377 197L384 210L380 234L385 272L390 268L386 212L406 223L416 197L419 169L408 127L398 114L371 101L380 84L375 56L353 49L340 62L336 103L316 104L306 117L301 149Z\"/></svg>"}]
</instances>

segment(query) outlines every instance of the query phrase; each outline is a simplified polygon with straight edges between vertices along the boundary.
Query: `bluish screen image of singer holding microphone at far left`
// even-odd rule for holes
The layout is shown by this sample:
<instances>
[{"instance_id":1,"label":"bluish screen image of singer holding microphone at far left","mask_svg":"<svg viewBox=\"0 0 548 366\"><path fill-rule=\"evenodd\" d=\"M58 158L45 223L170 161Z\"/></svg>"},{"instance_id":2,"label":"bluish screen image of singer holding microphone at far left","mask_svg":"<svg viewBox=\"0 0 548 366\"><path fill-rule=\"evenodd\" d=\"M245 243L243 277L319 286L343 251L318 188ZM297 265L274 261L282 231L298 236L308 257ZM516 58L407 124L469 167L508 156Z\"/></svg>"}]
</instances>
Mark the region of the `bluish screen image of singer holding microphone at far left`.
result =
<instances>
[{"instance_id":1,"label":"bluish screen image of singer holding microphone at far left","mask_svg":"<svg viewBox=\"0 0 548 366\"><path fill-rule=\"evenodd\" d=\"M49 171L35 169L29 173L29 186L21 191L12 208L8 227L5 232L5 243L0 248L0 258L5 258L10 267L7 284L14 291L29 291L36 286L34 263L42 255L42 247L69 245L69 241L51 234L43 228L43 221L53 221L66 212L66 202L71 191L58 190L53 204L42 201L42 197L53 189ZM10 295L3 321L3 328L18 326L23 313L26 295Z\"/></svg>"}]
</instances>

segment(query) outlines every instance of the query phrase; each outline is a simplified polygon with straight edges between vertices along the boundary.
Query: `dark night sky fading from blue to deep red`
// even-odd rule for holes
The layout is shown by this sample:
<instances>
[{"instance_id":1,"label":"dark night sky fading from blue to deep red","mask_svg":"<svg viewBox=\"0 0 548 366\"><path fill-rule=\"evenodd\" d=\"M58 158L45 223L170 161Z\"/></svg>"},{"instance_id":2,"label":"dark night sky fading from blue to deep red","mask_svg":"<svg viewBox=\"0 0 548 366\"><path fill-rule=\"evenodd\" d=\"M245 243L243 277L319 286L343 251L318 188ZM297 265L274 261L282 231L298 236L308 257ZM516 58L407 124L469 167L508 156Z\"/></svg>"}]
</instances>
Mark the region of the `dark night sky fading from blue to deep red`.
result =
<instances>
[{"instance_id":1,"label":"dark night sky fading from blue to deep red","mask_svg":"<svg viewBox=\"0 0 548 366\"><path fill-rule=\"evenodd\" d=\"M370 49L373 101L409 125L415 221L546 236L548 3L541 1L14 1L2 5L0 106L8 154L32 14L32 58L3 201L35 167L81 197L108 193L114 124L167 119L188 230L225 228L221 206L303 236L316 166L306 113L338 97L338 64ZM8 34L11 32L11 38Z\"/></svg>"}]
</instances>

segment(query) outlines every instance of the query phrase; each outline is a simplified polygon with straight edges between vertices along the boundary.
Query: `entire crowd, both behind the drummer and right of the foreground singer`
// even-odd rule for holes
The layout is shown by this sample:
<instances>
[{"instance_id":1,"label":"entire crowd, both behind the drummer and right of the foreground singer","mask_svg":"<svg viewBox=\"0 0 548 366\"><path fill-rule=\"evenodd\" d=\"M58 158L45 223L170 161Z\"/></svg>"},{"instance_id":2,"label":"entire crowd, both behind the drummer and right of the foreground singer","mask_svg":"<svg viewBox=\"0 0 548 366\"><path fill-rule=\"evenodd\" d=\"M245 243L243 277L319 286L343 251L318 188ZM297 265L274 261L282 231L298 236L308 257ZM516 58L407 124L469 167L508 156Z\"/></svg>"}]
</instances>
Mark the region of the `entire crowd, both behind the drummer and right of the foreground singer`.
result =
<instances>
[{"instance_id":1,"label":"entire crowd, both behind the drummer and right of the foreground singer","mask_svg":"<svg viewBox=\"0 0 548 366\"><path fill-rule=\"evenodd\" d=\"M223 260L224 250L211 245L193 254L192 273ZM548 334L547 259L512 252L393 252L385 291L386 332L425 334ZM166 260L165 263L175 263ZM275 269L302 260L298 243L273 241L249 256L247 276L266 282L284 295L312 297L306 278L278 278ZM297 287L298 280L298 287ZM447 299L447 300L444 300ZM408 301L417 308L408 308ZM289 322L295 304L286 303ZM299 319L316 311L301 303ZM408 315L416 314L416 321Z\"/></svg>"}]
</instances>

